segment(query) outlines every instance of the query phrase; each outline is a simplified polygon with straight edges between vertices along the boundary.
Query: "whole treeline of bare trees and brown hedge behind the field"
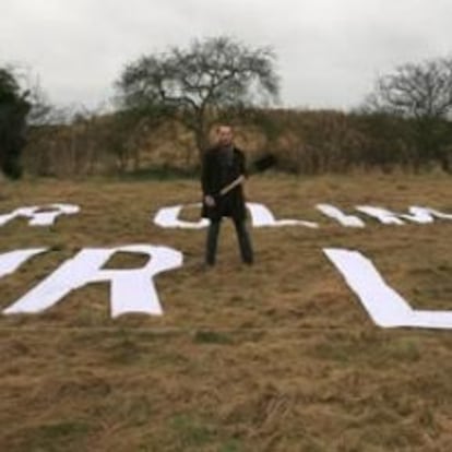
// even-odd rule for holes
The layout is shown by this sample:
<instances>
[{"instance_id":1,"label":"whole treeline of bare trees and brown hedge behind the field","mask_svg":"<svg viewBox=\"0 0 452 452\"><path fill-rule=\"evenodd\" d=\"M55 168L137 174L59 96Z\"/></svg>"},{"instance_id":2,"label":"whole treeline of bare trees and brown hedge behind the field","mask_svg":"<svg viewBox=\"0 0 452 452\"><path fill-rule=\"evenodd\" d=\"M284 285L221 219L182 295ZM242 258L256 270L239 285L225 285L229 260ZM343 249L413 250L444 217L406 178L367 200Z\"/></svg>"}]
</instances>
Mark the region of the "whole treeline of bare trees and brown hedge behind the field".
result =
<instances>
[{"instance_id":1,"label":"whole treeline of bare trees and brown hedge behind the field","mask_svg":"<svg viewBox=\"0 0 452 452\"><path fill-rule=\"evenodd\" d=\"M215 127L227 122L239 146L275 154L282 171L451 173L452 57L395 68L348 112L275 108L274 62L271 48L228 37L144 55L119 74L109 115L59 111L0 68L1 169L16 178L22 169L57 177L192 174Z\"/></svg>"}]
</instances>

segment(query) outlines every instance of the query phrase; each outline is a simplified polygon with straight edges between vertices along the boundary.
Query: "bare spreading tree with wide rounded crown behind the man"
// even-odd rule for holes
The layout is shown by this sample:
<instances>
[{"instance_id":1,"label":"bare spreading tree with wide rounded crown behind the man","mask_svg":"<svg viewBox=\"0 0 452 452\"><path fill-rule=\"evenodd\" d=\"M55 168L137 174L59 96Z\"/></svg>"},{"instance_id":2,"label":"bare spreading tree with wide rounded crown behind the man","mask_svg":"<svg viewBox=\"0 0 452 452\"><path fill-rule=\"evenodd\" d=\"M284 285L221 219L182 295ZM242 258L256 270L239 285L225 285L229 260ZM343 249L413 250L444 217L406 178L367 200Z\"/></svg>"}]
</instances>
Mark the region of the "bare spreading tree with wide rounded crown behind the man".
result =
<instances>
[{"instance_id":1,"label":"bare spreading tree with wide rounded crown behind the man","mask_svg":"<svg viewBox=\"0 0 452 452\"><path fill-rule=\"evenodd\" d=\"M226 112L277 99L274 59L271 48L250 49L228 37L143 56L116 84L120 107L178 120L194 134L201 154L212 124Z\"/></svg>"}]
</instances>

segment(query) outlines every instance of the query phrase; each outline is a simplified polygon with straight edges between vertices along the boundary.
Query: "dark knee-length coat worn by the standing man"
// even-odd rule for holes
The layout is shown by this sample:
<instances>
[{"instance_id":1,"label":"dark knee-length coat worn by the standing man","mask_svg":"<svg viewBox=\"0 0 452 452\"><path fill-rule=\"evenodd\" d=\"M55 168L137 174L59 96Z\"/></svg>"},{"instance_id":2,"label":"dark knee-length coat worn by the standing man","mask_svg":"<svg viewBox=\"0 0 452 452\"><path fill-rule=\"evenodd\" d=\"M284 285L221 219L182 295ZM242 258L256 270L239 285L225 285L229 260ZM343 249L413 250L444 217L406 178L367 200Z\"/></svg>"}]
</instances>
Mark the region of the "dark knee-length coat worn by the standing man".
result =
<instances>
[{"instance_id":1,"label":"dark knee-length coat worn by the standing man","mask_svg":"<svg viewBox=\"0 0 452 452\"><path fill-rule=\"evenodd\" d=\"M210 219L219 219L222 216L229 216L237 219L245 219L247 210L245 205L243 189L240 186L223 197L219 191L233 182L240 175L247 176L245 154L234 146L234 155L230 166L226 169L222 165L222 155L218 146L211 147L204 153L202 162L201 186L203 193L202 216ZM204 197L215 198L215 206L205 205Z\"/></svg>"}]
</instances>

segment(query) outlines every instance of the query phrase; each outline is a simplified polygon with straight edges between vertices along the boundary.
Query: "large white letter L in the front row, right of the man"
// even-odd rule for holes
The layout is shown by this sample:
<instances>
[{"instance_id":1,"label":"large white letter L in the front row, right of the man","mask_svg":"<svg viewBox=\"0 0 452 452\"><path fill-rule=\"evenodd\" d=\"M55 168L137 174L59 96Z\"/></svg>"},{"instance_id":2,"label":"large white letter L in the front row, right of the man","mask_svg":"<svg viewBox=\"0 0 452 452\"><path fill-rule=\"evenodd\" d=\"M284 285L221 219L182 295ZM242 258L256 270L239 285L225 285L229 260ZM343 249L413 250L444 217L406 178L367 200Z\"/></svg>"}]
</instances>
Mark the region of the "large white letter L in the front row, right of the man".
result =
<instances>
[{"instance_id":1,"label":"large white letter L in the front row, right of the man","mask_svg":"<svg viewBox=\"0 0 452 452\"><path fill-rule=\"evenodd\" d=\"M328 248L323 252L358 295L368 314L379 326L452 329L452 311L413 309L384 282L371 261L358 251Z\"/></svg>"}]
</instances>

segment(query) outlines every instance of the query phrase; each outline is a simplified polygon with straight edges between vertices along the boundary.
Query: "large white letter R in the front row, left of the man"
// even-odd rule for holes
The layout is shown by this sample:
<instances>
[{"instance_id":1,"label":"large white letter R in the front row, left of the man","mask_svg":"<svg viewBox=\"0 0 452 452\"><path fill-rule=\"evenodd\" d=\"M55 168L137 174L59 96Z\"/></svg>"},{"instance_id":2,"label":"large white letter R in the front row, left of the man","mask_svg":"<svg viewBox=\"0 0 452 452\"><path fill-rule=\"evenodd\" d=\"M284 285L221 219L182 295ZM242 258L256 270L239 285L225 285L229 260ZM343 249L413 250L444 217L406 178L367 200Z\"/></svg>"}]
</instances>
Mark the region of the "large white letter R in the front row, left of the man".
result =
<instances>
[{"instance_id":1,"label":"large white letter R in the front row, left of the man","mask_svg":"<svg viewBox=\"0 0 452 452\"><path fill-rule=\"evenodd\" d=\"M143 253L152 259L142 269L102 270L117 252ZM153 277L181 266L182 260L179 251L148 245L82 250L3 313L41 312L56 305L71 290L90 283L110 282L114 318L127 312L159 316L163 311Z\"/></svg>"}]
</instances>

